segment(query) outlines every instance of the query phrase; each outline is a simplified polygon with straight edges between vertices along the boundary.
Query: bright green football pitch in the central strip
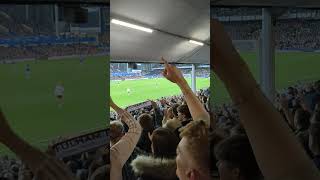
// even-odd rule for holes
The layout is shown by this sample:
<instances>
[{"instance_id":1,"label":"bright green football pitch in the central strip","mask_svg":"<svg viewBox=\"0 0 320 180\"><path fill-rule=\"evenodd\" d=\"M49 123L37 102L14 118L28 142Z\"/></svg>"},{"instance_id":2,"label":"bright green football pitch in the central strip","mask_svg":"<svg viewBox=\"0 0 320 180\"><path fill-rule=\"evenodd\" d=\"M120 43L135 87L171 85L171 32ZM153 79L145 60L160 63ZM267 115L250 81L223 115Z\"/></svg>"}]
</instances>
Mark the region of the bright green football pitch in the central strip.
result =
<instances>
[{"instance_id":1,"label":"bright green football pitch in the central strip","mask_svg":"<svg viewBox=\"0 0 320 180\"><path fill-rule=\"evenodd\" d=\"M191 79L187 79L189 85ZM197 89L204 89L210 86L209 78L197 78ZM127 89L130 89L128 94ZM155 100L161 97L181 94L177 85L165 78L140 79L111 82L111 97L121 107L133 105L148 99Z\"/></svg>"}]
</instances>

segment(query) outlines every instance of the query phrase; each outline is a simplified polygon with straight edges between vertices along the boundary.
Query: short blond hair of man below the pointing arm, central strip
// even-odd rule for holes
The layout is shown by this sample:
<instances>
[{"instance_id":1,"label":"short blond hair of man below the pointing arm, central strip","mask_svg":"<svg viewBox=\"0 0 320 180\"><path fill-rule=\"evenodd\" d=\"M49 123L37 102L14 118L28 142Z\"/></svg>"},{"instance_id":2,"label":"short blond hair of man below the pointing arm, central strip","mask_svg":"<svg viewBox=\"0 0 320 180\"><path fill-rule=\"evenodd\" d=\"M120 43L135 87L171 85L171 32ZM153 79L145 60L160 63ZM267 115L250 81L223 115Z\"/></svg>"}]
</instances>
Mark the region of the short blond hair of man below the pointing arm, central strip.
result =
<instances>
[{"instance_id":1,"label":"short blond hair of man below the pointing arm, central strip","mask_svg":"<svg viewBox=\"0 0 320 180\"><path fill-rule=\"evenodd\" d=\"M202 120L191 121L179 129L180 137L186 138L192 161L202 170L210 170L209 129Z\"/></svg>"}]
</instances>

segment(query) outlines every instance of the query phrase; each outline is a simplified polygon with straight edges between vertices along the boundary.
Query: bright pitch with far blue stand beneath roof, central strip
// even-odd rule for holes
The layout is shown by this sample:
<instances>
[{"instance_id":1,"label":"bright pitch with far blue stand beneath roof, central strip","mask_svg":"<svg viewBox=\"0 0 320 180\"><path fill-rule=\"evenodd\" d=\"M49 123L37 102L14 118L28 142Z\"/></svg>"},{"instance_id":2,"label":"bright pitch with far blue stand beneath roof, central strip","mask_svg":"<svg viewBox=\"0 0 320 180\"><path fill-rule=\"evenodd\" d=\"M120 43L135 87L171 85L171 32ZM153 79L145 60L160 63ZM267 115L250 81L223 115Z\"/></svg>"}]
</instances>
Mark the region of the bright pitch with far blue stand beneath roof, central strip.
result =
<instances>
[{"instance_id":1,"label":"bright pitch with far blue stand beneath roof, central strip","mask_svg":"<svg viewBox=\"0 0 320 180\"><path fill-rule=\"evenodd\" d=\"M127 72L128 64L111 63L111 97L120 107L141 103L147 100L157 100L181 94L178 87L162 76L164 70L161 64L131 63L136 69ZM121 69L124 67L124 69ZM178 65L191 86L190 65ZM210 86L209 65L198 65L196 70L197 90L208 89ZM144 69L144 70L142 70ZM150 70L149 70L150 69ZM129 70L130 71L130 70Z\"/></svg>"}]
</instances>

